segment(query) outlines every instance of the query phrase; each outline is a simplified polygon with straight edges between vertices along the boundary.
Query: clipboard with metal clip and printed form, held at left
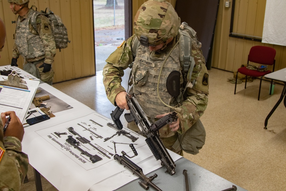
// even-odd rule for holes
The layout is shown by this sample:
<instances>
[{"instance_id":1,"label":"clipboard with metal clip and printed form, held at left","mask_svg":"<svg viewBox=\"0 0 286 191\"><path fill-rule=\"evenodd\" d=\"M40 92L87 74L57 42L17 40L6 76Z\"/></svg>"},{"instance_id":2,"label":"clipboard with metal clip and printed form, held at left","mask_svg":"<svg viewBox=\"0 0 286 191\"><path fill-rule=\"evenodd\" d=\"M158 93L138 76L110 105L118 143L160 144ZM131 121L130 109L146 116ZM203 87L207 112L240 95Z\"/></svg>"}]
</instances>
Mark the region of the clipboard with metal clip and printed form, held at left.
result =
<instances>
[{"instance_id":1,"label":"clipboard with metal clip and printed form, held at left","mask_svg":"<svg viewBox=\"0 0 286 191\"><path fill-rule=\"evenodd\" d=\"M15 111L23 123L40 82L22 79L15 70L0 80L0 113Z\"/></svg>"}]
</instances>

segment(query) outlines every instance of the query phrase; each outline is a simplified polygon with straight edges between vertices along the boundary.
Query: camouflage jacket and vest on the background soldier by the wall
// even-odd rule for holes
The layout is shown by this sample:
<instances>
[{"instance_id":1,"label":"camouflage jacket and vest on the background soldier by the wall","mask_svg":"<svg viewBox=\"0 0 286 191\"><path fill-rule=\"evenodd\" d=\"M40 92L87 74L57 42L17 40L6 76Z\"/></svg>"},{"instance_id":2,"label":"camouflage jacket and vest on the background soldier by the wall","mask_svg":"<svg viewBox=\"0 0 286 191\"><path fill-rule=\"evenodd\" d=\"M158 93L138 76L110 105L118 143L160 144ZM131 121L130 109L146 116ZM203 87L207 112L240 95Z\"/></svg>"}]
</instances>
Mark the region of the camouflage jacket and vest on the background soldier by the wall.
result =
<instances>
[{"instance_id":1,"label":"camouflage jacket and vest on the background soldier by the wall","mask_svg":"<svg viewBox=\"0 0 286 191\"><path fill-rule=\"evenodd\" d=\"M26 15L18 17L12 56L18 58L22 55L26 63L45 58L45 63L52 64L56 47L49 20L39 15L35 30L30 21L34 13L33 9L29 9Z\"/></svg>"}]
</instances>

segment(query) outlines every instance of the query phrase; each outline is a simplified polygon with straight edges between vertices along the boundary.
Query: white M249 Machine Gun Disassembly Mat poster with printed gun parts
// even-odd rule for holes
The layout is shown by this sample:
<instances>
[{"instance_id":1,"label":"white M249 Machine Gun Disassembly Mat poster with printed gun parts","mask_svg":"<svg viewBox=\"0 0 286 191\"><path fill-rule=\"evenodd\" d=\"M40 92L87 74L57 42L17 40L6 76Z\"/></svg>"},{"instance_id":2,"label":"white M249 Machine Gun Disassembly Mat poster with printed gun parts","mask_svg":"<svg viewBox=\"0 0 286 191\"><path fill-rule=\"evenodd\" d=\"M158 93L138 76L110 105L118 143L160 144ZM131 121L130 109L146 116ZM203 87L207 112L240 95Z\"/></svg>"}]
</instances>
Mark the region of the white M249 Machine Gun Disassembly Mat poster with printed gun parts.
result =
<instances>
[{"instance_id":1,"label":"white M249 Machine Gun Disassembly Mat poster with printed gun parts","mask_svg":"<svg viewBox=\"0 0 286 191\"><path fill-rule=\"evenodd\" d=\"M137 133L126 128L118 130L111 121L92 113L35 132L76 164L90 170L114 160L113 155L121 155L121 151L134 155L130 144L135 149L146 144L144 139L138 140Z\"/></svg>"}]
</instances>

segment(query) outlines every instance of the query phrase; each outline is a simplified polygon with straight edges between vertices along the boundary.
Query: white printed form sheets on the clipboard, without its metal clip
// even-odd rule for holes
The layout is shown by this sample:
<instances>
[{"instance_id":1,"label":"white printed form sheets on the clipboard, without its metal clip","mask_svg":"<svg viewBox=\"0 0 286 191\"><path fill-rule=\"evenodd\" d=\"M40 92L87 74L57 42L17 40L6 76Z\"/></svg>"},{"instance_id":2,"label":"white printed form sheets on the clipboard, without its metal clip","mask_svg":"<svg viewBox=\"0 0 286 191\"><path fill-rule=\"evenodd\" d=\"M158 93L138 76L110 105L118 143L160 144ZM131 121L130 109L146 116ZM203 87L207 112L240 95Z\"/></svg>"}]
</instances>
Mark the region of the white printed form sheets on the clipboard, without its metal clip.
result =
<instances>
[{"instance_id":1,"label":"white printed form sheets on the clipboard, without its metal clip","mask_svg":"<svg viewBox=\"0 0 286 191\"><path fill-rule=\"evenodd\" d=\"M1 76L0 79L7 79L7 76ZM1 80L4 81L4 80ZM36 80L24 80L28 90L0 85L0 113L6 111L15 111L20 121L23 123L27 111L32 103L35 92L39 85Z\"/></svg>"}]
</instances>

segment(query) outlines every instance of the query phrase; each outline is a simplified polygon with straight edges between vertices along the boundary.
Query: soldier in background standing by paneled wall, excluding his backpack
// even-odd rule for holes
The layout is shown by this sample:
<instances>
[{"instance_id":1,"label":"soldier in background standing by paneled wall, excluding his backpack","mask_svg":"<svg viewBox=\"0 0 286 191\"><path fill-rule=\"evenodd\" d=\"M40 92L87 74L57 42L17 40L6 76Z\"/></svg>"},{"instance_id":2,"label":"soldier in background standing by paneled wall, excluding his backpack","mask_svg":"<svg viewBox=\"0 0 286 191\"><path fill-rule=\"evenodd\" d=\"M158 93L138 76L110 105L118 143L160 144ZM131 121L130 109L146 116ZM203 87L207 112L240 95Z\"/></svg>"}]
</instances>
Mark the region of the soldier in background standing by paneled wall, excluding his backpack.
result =
<instances>
[{"instance_id":1,"label":"soldier in background standing by paneled wall, excluding his backpack","mask_svg":"<svg viewBox=\"0 0 286 191\"><path fill-rule=\"evenodd\" d=\"M26 72L52 85L56 46L49 19L45 15L38 15L35 29L31 19L37 12L29 9L29 0L8 0L8 3L12 12L19 14L11 66L18 66L17 58L21 55L25 58L23 69Z\"/></svg>"}]
</instances>

